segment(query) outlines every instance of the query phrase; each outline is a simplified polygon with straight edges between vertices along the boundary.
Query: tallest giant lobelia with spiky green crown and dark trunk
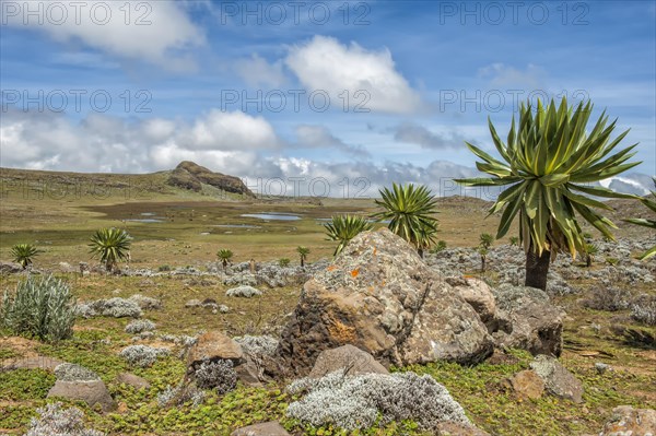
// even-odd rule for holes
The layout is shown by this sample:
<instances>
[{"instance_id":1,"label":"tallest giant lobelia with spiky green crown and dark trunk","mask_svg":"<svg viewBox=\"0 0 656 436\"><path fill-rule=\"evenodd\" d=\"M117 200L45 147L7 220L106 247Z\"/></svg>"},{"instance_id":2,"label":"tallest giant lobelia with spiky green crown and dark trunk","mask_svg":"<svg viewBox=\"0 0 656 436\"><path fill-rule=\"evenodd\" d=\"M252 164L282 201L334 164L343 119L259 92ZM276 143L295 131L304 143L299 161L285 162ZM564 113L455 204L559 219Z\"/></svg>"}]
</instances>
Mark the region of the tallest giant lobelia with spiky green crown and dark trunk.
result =
<instances>
[{"instance_id":1,"label":"tallest giant lobelia with spiky green crown and dark trunk","mask_svg":"<svg viewBox=\"0 0 656 436\"><path fill-rule=\"evenodd\" d=\"M612 209L583 195L636 198L589 186L590 182L616 176L640 164L625 163L634 155L631 151L636 144L610 154L629 131L610 140L617 120L607 126L606 113L601 114L591 131L586 131L591 111L591 103L581 103L574 109L565 98L559 107L554 101L544 107L538 99L535 115L530 104L522 104L519 128L516 129L513 117L506 143L489 120L492 141L504 162L467 143L469 150L483 161L477 162L477 168L493 177L456 181L466 186L509 185L499 196L490 214L503 211L497 239L505 236L515 216L519 215L519 240L526 252L527 286L547 288L549 264L558 251L566 250L572 256L576 251L585 251L576 213L606 237L613 238L610 228L617 228L614 224L593 210Z\"/></svg>"}]
</instances>

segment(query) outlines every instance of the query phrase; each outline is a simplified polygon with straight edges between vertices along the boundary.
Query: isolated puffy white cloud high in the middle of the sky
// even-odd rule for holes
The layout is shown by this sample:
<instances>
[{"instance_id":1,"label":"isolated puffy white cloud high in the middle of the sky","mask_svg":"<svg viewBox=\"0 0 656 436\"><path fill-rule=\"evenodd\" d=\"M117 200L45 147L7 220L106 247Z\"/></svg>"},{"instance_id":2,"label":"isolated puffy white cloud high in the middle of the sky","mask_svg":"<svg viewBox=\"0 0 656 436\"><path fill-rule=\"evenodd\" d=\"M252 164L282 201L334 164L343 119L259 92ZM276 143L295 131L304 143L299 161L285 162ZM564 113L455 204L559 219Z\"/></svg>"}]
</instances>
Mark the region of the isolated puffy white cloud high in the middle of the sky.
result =
<instances>
[{"instance_id":1,"label":"isolated puffy white cloud high in the middle of the sky","mask_svg":"<svg viewBox=\"0 0 656 436\"><path fill-rule=\"evenodd\" d=\"M347 91L351 109L359 104L361 108L394 114L421 108L419 94L396 70L387 48L366 50L355 43L347 46L317 35L291 47L285 63L303 86L311 92L327 92L331 101L340 102L340 107Z\"/></svg>"}]
</instances>

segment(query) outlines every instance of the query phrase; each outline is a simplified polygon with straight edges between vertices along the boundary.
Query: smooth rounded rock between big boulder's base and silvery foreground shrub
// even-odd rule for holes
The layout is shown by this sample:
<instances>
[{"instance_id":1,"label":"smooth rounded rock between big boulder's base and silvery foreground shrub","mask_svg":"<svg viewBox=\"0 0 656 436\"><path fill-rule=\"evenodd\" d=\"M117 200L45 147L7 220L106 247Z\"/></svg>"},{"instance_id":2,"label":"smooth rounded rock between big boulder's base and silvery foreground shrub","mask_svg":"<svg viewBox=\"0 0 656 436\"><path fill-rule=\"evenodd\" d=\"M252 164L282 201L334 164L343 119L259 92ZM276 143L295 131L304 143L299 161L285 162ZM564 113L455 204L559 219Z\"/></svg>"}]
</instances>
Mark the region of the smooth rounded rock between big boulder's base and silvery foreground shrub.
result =
<instances>
[{"instance_id":1,"label":"smooth rounded rock between big boulder's base and silvery foreground shrub","mask_svg":"<svg viewBox=\"0 0 656 436\"><path fill-rule=\"evenodd\" d=\"M347 344L320 352L308 377L320 378L338 369L345 369L345 373L350 376L359 374L389 374L387 368L376 362L370 353Z\"/></svg>"}]
</instances>

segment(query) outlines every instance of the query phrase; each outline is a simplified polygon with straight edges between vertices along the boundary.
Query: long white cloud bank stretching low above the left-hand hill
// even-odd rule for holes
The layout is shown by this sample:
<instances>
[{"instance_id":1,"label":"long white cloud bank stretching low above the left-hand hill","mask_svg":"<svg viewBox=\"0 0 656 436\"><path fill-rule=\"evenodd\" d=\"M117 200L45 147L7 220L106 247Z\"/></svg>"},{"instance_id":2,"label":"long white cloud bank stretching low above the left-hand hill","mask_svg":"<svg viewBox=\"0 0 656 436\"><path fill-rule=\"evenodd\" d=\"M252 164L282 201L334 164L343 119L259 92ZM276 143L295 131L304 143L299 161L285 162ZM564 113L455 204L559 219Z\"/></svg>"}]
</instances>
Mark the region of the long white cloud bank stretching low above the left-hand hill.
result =
<instances>
[{"instance_id":1,"label":"long white cloud bank stretching low above the left-hand hill","mask_svg":"<svg viewBox=\"0 0 656 436\"><path fill-rule=\"evenodd\" d=\"M281 143L263 118L220 111L185 123L104 114L73 122L61 114L13 110L3 114L0 139L2 166L114 173L167 169L190 160L239 174L254 167L258 151Z\"/></svg>"}]
</instances>

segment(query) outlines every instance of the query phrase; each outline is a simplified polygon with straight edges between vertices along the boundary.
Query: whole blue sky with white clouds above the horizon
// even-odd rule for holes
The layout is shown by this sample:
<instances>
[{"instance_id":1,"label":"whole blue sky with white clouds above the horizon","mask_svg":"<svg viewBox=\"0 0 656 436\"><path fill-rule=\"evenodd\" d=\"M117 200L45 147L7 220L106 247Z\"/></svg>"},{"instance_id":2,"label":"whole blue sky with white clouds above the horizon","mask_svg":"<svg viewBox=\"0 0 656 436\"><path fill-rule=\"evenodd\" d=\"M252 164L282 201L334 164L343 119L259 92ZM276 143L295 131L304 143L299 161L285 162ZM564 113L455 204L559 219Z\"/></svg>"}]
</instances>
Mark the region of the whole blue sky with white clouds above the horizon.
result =
<instances>
[{"instance_id":1,"label":"whole blue sky with white clouds above the horizon","mask_svg":"<svg viewBox=\"0 0 656 436\"><path fill-rule=\"evenodd\" d=\"M358 177L440 189L476 174L464 141L490 146L488 116L506 131L517 102L566 95L631 128L635 172L654 175L655 5L34 1L27 11L0 0L1 165L140 173L192 160L251 180L325 178L335 191Z\"/></svg>"}]
</instances>

